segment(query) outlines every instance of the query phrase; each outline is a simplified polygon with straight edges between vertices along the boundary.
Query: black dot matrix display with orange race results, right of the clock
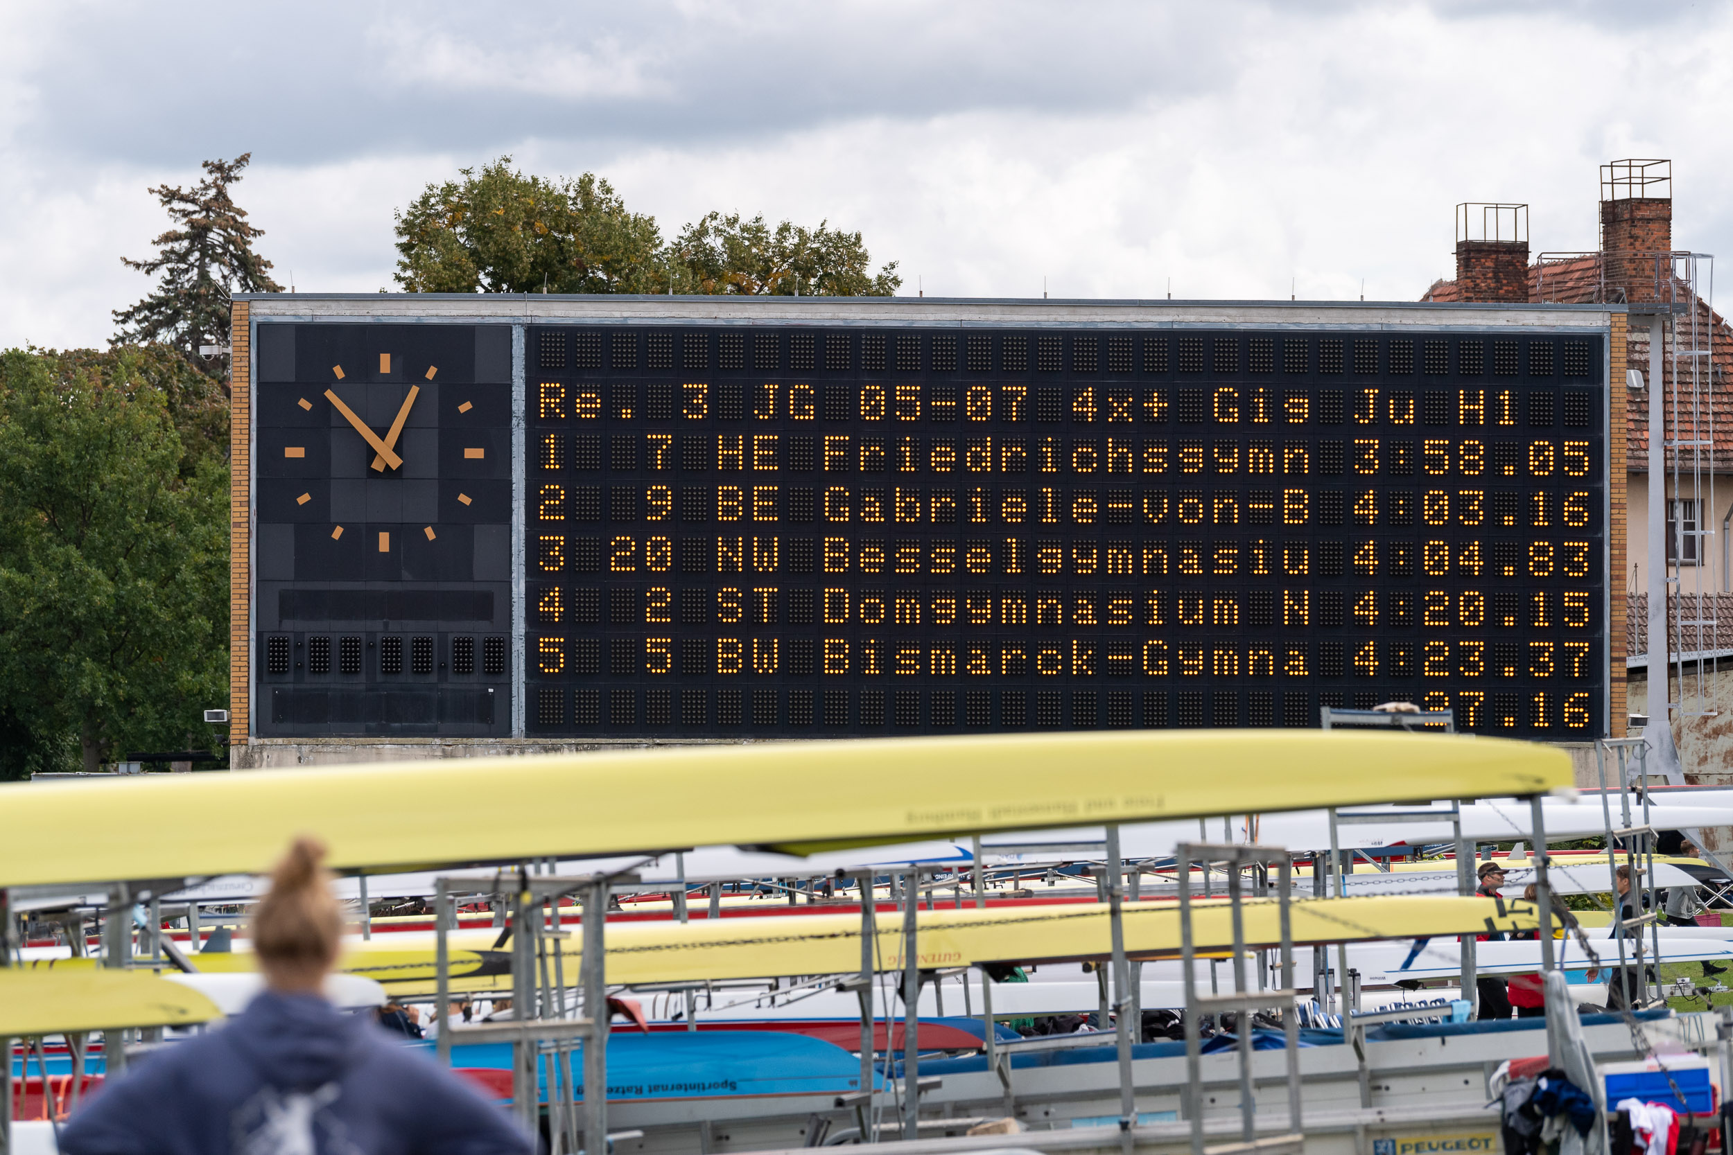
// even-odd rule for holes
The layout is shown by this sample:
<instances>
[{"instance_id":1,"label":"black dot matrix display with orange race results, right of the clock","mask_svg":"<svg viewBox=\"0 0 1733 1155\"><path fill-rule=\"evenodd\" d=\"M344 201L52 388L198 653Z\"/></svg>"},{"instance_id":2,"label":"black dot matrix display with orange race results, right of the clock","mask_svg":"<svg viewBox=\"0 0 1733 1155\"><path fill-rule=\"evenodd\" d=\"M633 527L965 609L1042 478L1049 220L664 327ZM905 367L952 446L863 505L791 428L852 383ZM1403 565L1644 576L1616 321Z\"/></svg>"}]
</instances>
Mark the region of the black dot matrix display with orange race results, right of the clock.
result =
<instances>
[{"instance_id":1,"label":"black dot matrix display with orange race results, right of the clock","mask_svg":"<svg viewBox=\"0 0 1733 1155\"><path fill-rule=\"evenodd\" d=\"M532 734L1605 719L1598 336L527 332Z\"/></svg>"}]
</instances>

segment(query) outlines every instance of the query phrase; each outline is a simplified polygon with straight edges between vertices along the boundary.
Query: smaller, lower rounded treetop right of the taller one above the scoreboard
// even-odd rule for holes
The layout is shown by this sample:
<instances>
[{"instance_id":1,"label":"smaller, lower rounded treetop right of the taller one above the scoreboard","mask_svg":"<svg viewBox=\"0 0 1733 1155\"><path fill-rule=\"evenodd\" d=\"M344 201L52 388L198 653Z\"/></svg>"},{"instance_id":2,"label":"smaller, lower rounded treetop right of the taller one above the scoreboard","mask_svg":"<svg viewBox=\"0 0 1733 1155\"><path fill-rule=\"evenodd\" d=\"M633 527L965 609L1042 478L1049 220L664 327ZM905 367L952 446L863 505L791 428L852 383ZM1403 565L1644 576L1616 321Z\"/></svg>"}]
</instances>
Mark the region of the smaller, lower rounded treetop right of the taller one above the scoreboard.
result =
<instances>
[{"instance_id":1,"label":"smaller, lower rounded treetop right of the taller one above the scoreboard","mask_svg":"<svg viewBox=\"0 0 1733 1155\"><path fill-rule=\"evenodd\" d=\"M709 213L686 225L674 241L693 293L747 296L896 296L903 277L891 261L877 274L861 234L782 222L764 216Z\"/></svg>"}]
</instances>

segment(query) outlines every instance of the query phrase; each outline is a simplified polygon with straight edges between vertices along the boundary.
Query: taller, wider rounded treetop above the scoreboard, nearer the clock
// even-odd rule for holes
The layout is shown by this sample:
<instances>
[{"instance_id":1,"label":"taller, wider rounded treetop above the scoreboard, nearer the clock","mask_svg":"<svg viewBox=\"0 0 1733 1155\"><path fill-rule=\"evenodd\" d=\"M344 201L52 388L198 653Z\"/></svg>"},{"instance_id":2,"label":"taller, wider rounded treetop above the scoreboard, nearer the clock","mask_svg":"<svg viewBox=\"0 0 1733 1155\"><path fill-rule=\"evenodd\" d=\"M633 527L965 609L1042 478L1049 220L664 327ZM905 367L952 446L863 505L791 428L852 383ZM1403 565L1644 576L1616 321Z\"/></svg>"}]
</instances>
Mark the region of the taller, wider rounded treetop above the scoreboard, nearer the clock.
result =
<instances>
[{"instance_id":1,"label":"taller, wider rounded treetop above the scoreboard, nearer the clock","mask_svg":"<svg viewBox=\"0 0 1733 1155\"><path fill-rule=\"evenodd\" d=\"M607 180L525 177L503 156L428 185L397 220L397 284L409 293L667 291L653 216Z\"/></svg>"}]
</instances>

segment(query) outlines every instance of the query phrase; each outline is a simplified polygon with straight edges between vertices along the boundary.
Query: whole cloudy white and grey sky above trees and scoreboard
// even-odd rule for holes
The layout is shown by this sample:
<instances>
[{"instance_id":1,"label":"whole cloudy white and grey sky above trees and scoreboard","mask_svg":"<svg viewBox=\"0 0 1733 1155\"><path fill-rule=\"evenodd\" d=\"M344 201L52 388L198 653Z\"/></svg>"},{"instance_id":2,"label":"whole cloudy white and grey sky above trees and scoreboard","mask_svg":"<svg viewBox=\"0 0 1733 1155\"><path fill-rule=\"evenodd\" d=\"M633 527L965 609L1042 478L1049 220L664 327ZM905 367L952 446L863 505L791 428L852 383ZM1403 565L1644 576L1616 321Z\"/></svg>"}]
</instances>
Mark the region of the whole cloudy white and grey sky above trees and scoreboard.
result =
<instances>
[{"instance_id":1,"label":"whole cloudy white and grey sky above trees and scoreboard","mask_svg":"<svg viewBox=\"0 0 1733 1155\"><path fill-rule=\"evenodd\" d=\"M0 0L0 346L101 345L149 185L251 151L279 281L392 286L392 210L510 154L860 229L929 296L1414 300L1457 201L1596 246L1596 166L1671 158L1733 253L1733 9L1686 3Z\"/></svg>"}]
</instances>

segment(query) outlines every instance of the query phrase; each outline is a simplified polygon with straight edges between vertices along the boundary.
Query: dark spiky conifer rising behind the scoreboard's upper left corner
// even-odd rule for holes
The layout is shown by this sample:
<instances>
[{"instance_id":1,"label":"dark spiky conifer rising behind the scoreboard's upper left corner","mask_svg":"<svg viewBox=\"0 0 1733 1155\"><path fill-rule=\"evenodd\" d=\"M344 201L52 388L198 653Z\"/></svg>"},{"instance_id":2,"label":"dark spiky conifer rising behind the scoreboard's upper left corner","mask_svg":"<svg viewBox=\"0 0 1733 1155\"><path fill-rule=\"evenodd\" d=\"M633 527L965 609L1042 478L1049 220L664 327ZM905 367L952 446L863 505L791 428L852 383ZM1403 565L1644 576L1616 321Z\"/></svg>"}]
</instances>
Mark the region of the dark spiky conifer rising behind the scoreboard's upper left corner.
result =
<instances>
[{"instance_id":1,"label":"dark spiky conifer rising behind the scoreboard's upper left corner","mask_svg":"<svg viewBox=\"0 0 1733 1155\"><path fill-rule=\"evenodd\" d=\"M224 345L229 332L230 293L281 293L267 272L272 265L253 251L265 236L246 220L246 210L229 196L241 170L253 159L243 152L232 161L204 161L204 178L191 189L151 189L175 227L156 237L156 256L142 261L121 258L127 268L161 274L156 293L130 308L114 310L116 341L163 341L189 364L215 379L227 379L227 357L204 360L201 343Z\"/></svg>"}]
</instances>

